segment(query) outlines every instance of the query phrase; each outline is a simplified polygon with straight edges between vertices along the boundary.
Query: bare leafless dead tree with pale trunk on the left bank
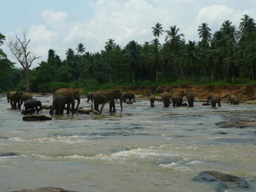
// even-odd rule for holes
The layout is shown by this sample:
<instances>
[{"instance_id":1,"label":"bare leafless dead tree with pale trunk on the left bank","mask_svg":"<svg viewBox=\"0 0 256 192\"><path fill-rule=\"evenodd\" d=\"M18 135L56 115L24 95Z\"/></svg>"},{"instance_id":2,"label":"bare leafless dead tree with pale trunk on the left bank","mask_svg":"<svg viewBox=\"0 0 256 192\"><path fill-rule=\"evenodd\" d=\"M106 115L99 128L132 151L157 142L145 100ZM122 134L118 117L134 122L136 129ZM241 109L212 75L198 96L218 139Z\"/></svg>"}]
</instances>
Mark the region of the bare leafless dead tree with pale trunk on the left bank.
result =
<instances>
[{"instance_id":1,"label":"bare leafless dead tree with pale trunk on the left bank","mask_svg":"<svg viewBox=\"0 0 256 192\"><path fill-rule=\"evenodd\" d=\"M8 39L9 42L7 43L7 46L10 48L11 52L12 52L12 57L16 58L18 60L18 62L21 64L21 66L23 67L23 70L25 72L25 81L26 81L26 92L30 91L29 89L29 75L28 75L28 71L29 71L29 67L31 67L32 62L37 59L40 58L35 56L34 51L28 51L28 43L31 41L31 39L27 40L26 39L26 32L27 30L25 30L23 28L23 31L21 31L23 34L23 39L19 38L17 36L17 34L14 37L11 37L9 35Z\"/></svg>"}]
</instances>

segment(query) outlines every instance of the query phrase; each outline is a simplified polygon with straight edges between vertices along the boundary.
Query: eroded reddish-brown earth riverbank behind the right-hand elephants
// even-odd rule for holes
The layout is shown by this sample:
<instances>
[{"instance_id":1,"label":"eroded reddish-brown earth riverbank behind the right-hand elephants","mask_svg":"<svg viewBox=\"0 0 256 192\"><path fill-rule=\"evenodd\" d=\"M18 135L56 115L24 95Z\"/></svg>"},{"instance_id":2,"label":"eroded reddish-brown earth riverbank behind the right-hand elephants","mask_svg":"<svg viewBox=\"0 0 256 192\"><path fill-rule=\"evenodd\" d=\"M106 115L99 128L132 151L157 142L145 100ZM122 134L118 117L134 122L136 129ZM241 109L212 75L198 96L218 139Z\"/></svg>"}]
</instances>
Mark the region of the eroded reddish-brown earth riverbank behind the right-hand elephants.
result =
<instances>
[{"instance_id":1,"label":"eroded reddish-brown earth riverbank behind the right-hand elephants","mask_svg":"<svg viewBox=\"0 0 256 192\"><path fill-rule=\"evenodd\" d=\"M123 86L117 87L122 92L131 92L135 94L136 98L148 99L148 96L152 93L157 99L161 99L161 93L168 91L172 96L176 92L184 90L192 90L195 94L196 101L207 101L208 95L218 94L220 95L222 101L228 101L229 95L236 95L240 102L250 102L256 103L256 84L247 85L191 85L191 84L181 84L181 85L168 85L168 86ZM78 89L81 97L86 97L86 90L84 88ZM0 93L0 95L6 95L6 93ZM53 95L53 93L33 93L33 95ZM186 96L184 96L186 99Z\"/></svg>"}]
</instances>

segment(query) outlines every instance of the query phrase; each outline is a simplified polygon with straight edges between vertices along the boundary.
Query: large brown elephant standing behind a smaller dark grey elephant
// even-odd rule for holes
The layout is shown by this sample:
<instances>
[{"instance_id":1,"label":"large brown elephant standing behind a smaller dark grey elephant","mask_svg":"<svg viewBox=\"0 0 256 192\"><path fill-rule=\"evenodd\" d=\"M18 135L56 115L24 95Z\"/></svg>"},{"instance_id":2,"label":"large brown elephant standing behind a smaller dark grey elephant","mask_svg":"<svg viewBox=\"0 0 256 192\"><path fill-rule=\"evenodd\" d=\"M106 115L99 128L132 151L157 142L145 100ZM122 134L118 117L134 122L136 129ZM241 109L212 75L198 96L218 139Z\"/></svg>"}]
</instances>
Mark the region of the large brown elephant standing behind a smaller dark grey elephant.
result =
<instances>
[{"instance_id":1,"label":"large brown elephant standing behind a smaller dark grey elephant","mask_svg":"<svg viewBox=\"0 0 256 192\"><path fill-rule=\"evenodd\" d=\"M70 88L61 88L56 90L53 93L53 98L57 95L65 95L71 98L70 102L67 103L67 114L69 114L70 104L72 107L72 113L76 113L78 106L80 104L80 93L78 90L70 89ZM76 110L75 110L75 99L77 100ZM50 111L50 113L52 113Z\"/></svg>"}]
</instances>

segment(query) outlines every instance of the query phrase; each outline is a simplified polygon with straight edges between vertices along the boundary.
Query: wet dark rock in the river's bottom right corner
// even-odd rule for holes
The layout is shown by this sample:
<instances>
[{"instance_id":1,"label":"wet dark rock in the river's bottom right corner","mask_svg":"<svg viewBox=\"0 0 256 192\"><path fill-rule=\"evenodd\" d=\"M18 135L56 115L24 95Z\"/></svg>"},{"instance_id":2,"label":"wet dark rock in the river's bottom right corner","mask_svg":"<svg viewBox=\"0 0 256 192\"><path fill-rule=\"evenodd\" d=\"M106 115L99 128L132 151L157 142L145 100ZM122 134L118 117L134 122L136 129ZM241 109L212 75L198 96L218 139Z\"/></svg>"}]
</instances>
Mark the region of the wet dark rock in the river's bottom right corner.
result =
<instances>
[{"instance_id":1,"label":"wet dark rock in the river's bottom right corner","mask_svg":"<svg viewBox=\"0 0 256 192\"><path fill-rule=\"evenodd\" d=\"M243 177L237 177L227 173L218 171L203 171L198 174L194 179L196 182L214 182L219 191L227 189L247 189L249 184Z\"/></svg>"}]
</instances>

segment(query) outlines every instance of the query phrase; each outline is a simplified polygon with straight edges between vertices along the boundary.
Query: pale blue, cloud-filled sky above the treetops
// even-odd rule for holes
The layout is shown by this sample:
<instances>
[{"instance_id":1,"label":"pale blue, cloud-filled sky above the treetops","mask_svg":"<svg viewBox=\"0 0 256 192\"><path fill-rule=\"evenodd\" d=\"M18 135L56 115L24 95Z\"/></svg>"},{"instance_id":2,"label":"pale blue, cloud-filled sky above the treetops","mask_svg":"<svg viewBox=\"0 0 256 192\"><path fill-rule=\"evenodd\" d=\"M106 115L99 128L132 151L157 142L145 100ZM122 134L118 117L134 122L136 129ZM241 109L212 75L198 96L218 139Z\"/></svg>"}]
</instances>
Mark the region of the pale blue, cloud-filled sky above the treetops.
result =
<instances>
[{"instance_id":1,"label":"pale blue, cloud-filled sky above the treetops","mask_svg":"<svg viewBox=\"0 0 256 192\"><path fill-rule=\"evenodd\" d=\"M66 50L76 53L79 43L90 53L104 50L108 39L121 48L132 40L143 45L156 38L151 27L157 22L164 31L176 25L186 42L198 42L197 29L202 23L208 23L213 34L225 20L235 27L245 14L256 20L253 0L1 0L0 4L0 33L6 36L0 48L18 63L6 44L8 37L22 38L22 30L27 30L26 38L31 39L28 50L41 56L31 69L47 61L50 49L64 60ZM161 44L166 35L160 35Z\"/></svg>"}]
</instances>

